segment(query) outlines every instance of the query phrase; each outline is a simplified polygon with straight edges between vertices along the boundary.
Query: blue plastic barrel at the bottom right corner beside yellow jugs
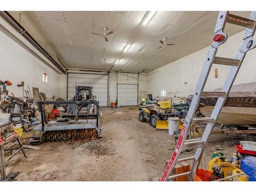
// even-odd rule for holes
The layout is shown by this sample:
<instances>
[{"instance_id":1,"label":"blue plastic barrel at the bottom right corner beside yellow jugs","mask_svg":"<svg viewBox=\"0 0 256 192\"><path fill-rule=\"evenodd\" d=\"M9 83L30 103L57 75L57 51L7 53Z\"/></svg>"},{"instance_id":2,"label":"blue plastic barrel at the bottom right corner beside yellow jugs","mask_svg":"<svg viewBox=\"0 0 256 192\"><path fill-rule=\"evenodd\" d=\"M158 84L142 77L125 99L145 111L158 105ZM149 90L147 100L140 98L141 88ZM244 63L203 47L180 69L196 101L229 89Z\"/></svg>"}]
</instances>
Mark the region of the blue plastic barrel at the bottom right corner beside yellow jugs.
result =
<instances>
[{"instance_id":1,"label":"blue plastic barrel at the bottom right corner beside yellow jugs","mask_svg":"<svg viewBox=\"0 0 256 192\"><path fill-rule=\"evenodd\" d=\"M241 169L249 176L249 181L256 181L256 157L247 156L243 158Z\"/></svg>"}]
</instances>

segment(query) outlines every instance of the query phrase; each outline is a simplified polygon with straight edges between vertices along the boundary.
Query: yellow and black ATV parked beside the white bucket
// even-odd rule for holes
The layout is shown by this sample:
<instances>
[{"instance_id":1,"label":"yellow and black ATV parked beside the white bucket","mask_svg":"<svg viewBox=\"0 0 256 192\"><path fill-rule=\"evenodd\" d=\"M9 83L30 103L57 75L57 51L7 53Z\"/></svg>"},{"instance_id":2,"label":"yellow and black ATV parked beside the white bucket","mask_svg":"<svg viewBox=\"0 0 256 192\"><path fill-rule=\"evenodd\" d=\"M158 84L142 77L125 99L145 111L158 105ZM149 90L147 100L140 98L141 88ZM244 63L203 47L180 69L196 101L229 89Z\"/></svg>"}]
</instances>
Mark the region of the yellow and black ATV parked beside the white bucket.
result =
<instances>
[{"instance_id":1,"label":"yellow and black ATV parked beside the white bucket","mask_svg":"<svg viewBox=\"0 0 256 192\"><path fill-rule=\"evenodd\" d=\"M150 121L153 127L156 127L157 121L167 121L169 117L176 114L176 110L170 106L170 102L159 101L156 106L144 105L139 107L141 111L139 120L141 122Z\"/></svg>"}]
</instances>

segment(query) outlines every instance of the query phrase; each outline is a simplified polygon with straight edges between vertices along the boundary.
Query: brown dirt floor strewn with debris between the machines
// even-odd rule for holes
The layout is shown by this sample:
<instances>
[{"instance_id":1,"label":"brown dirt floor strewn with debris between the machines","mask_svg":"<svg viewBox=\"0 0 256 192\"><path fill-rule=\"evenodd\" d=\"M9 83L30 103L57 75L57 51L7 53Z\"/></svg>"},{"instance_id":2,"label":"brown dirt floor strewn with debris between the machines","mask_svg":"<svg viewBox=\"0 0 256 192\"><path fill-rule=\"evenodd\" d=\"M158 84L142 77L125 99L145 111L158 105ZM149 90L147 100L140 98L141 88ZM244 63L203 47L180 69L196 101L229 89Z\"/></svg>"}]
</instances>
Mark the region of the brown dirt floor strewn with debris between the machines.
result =
<instances>
[{"instance_id":1,"label":"brown dirt floor strewn with debris between the machines","mask_svg":"<svg viewBox=\"0 0 256 192\"><path fill-rule=\"evenodd\" d=\"M167 130L157 131L140 122L138 107L101 110L102 139L36 145L39 150L26 149L27 159L20 153L8 162L7 174L20 172L18 181L159 181L174 150L174 138ZM23 143L31 136L32 131L26 133ZM221 146L229 159L236 152L234 144L241 140L255 141L255 136L211 135L202 167L208 166L215 146Z\"/></svg>"}]
</instances>

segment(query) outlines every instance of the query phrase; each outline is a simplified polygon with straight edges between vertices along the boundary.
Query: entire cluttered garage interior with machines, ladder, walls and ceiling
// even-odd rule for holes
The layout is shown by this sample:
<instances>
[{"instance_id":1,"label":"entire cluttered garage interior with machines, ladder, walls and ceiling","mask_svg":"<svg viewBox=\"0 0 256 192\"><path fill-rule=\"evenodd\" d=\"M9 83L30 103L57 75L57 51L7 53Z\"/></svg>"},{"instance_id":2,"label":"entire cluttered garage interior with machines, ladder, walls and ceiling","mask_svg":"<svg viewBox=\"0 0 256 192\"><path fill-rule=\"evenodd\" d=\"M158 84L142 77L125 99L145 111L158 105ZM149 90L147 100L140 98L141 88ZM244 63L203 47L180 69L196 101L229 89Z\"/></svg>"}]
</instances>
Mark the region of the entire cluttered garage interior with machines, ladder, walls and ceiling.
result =
<instances>
[{"instance_id":1,"label":"entire cluttered garage interior with machines, ladder, walls and ceiling","mask_svg":"<svg viewBox=\"0 0 256 192\"><path fill-rule=\"evenodd\" d=\"M0 11L1 180L255 181L255 26L255 11Z\"/></svg>"}]
</instances>

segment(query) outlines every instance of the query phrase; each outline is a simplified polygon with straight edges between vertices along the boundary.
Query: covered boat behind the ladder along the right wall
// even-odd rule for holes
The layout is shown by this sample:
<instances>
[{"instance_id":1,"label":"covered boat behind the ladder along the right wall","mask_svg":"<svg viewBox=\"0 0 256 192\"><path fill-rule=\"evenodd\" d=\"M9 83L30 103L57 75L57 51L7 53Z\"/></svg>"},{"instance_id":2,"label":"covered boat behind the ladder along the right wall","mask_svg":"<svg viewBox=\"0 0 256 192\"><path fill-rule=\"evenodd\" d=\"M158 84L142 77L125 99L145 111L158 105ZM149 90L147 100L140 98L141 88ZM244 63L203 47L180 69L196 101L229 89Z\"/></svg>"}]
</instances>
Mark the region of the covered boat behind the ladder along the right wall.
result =
<instances>
[{"instance_id":1,"label":"covered boat behind the ladder along the right wall","mask_svg":"<svg viewBox=\"0 0 256 192\"><path fill-rule=\"evenodd\" d=\"M220 89L214 91L220 92ZM193 96L187 98L190 104ZM218 98L201 98L200 112L210 117ZM189 102L190 101L190 102ZM217 123L225 125L256 125L256 82L232 86Z\"/></svg>"}]
</instances>

